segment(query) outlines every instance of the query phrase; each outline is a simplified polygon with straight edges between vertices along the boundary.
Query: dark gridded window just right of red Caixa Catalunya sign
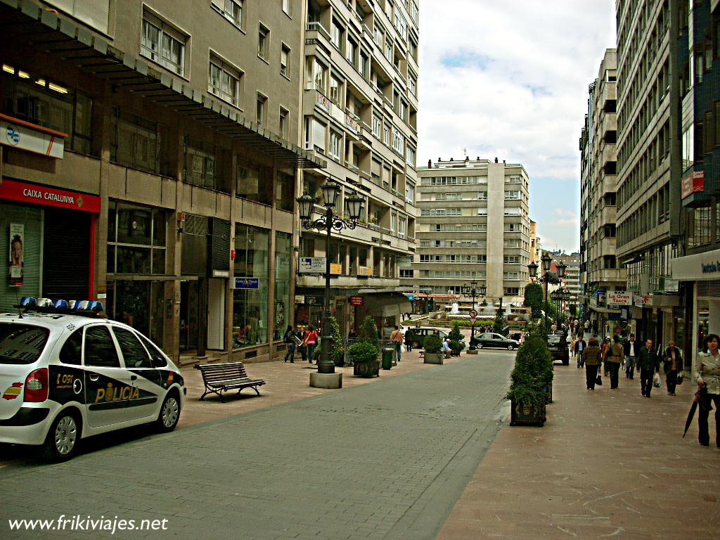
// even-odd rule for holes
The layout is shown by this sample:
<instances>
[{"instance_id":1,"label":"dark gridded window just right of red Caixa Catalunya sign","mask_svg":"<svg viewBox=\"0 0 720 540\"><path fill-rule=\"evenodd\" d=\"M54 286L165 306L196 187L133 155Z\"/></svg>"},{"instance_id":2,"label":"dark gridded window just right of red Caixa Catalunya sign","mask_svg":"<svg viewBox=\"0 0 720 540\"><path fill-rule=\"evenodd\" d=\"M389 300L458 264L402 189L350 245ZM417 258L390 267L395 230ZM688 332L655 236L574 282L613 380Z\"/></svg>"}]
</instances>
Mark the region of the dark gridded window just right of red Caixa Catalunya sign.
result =
<instances>
[{"instance_id":1,"label":"dark gridded window just right of red Caixa Catalunya sign","mask_svg":"<svg viewBox=\"0 0 720 540\"><path fill-rule=\"evenodd\" d=\"M168 213L109 201L107 271L109 274L166 274Z\"/></svg>"}]
</instances>

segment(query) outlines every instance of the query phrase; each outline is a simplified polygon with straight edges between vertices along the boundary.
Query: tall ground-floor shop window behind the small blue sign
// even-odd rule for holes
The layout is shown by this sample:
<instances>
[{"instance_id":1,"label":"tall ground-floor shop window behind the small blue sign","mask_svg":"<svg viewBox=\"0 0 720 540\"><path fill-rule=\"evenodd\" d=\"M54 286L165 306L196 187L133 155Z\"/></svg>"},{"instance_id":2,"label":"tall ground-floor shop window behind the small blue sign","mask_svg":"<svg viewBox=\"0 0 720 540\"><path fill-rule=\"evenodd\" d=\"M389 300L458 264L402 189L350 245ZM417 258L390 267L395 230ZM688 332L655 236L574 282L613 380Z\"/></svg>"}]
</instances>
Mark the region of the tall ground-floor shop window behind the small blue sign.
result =
<instances>
[{"instance_id":1,"label":"tall ground-floor shop window behind the small blue sign","mask_svg":"<svg viewBox=\"0 0 720 540\"><path fill-rule=\"evenodd\" d=\"M269 257L269 230L235 225L234 274L240 283L233 291L235 348L268 343Z\"/></svg>"}]
</instances>

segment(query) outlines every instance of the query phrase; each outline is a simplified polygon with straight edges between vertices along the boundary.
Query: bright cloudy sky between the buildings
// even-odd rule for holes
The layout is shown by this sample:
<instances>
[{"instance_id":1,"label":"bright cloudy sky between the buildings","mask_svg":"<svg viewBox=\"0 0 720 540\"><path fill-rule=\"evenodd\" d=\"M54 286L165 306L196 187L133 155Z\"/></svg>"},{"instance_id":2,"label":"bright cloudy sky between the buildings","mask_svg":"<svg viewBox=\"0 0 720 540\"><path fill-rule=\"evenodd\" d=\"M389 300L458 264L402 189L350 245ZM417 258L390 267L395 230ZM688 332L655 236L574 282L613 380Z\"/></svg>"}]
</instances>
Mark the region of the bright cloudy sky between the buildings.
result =
<instances>
[{"instance_id":1,"label":"bright cloudy sky between the buildings","mask_svg":"<svg viewBox=\"0 0 720 540\"><path fill-rule=\"evenodd\" d=\"M580 248L580 130L615 47L613 0L420 3L418 166L522 163L546 249Z\"/></svg>"}]
</instances>

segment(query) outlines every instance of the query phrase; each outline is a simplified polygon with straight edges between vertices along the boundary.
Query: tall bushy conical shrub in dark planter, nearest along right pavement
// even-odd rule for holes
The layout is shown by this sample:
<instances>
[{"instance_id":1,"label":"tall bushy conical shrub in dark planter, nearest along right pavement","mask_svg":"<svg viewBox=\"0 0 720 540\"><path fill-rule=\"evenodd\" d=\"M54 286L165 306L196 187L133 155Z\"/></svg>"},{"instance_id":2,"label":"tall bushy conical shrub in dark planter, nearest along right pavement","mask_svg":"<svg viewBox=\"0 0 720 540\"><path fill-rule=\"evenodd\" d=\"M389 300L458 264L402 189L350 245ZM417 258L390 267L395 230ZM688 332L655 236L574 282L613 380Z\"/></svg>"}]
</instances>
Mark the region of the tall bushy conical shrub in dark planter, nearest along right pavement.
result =
<instances>
[{"instance_id":1,"label":"tall bushy conical shrub in dark planter, nearest along right pavement","mask_svg":"<svg viewBox=\"0 0 720 540\"><path fill-rule=\"evenodd\" d=\"M531 333L518 348L515 366L510 374L510 426L536 425L545 422L545 405L551 392L552 356L545 339Z\"/></svg>"}]
</instances>

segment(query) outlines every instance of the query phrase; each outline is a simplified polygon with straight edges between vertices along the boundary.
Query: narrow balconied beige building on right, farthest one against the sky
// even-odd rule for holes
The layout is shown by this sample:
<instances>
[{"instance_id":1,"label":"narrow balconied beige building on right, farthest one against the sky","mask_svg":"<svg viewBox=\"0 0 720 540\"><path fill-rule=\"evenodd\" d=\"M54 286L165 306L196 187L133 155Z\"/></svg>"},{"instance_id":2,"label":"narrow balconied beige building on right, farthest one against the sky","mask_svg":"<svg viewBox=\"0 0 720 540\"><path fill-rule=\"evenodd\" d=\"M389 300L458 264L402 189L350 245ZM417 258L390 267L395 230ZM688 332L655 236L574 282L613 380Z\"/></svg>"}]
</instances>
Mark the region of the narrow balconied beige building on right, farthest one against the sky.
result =
<instances>
[{"instance_id":1,"label":"narrow balconied beige building on right, farthest one against the sky","mask_svg":"<svg viewBox=\"0 0 720 540\"><path fill-rule=\"evenodd\" d=\"M598 321L598 328L606 328L611 315L621 315L619 308L607 305L606 292L626 287L625 269L616 258L616 58L615 49L606 50L598 78L588 88L588 115L581 138L582 278L588 316Z\"/></svg>"}]
</instances>

